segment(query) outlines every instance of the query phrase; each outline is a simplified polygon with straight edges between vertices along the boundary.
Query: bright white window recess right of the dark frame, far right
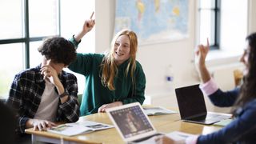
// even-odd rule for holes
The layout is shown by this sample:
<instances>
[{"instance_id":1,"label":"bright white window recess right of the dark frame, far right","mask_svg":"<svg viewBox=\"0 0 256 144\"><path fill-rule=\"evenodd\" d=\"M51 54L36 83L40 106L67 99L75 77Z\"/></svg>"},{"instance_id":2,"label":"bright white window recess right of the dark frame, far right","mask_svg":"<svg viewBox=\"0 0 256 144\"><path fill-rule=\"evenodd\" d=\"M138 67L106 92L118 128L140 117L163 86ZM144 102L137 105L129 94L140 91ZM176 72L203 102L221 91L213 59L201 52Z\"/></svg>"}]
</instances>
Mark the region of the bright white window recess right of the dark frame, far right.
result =
<instances>
[{"instance_id":1,"label":"bright white window recess right of the dark frame, far right","mask_svg":"<svg viewBox=\"0 0 256 144\"><path fill-rule=\"evenodd\" d=\"M222 0L221 5L220 46L223 50L241 55L248 30L248 1Z\"/></svg>"}]
</instances>

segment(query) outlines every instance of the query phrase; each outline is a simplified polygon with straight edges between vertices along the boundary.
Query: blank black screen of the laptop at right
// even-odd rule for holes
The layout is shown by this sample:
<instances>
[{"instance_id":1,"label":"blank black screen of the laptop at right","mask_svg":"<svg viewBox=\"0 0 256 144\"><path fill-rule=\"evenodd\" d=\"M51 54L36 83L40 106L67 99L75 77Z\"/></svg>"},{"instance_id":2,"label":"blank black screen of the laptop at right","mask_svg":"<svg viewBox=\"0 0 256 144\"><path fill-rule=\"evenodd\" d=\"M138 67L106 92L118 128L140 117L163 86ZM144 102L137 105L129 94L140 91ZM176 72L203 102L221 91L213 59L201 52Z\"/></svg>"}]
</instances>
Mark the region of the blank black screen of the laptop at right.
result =
<instances>
[{"instance_id":1,"label":"blank black screen of the laptop at right","mask_svg":"<svg viewBox=\"0 0 256 144\"><path fill-rule=\"evenodd\" d=\"M206 103L198 84L177 88L175 93L182 119L207 114Z\"/></svg>"}]
</instances>

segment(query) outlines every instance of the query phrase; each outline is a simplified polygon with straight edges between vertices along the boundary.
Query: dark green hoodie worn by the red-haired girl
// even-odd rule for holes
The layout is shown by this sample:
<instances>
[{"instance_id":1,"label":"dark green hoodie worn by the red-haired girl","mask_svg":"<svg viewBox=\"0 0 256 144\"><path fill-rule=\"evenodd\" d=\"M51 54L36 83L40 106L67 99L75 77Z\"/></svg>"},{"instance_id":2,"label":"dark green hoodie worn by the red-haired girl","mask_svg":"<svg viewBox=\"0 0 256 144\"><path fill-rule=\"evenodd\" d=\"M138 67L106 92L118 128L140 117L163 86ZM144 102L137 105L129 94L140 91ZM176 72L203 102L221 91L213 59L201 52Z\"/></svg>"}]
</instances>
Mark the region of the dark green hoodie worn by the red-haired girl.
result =
<instances>
[{"instance_id":1,"label":"dark green hoodie worn by the red-haired girl","mask_svg":"<svg viewBox=\"0 0 256 144\"><path fill-rule=\"evenodd\" d=\"M125 74L129 59L118 66L118 75L114 78L115 90L109 90L101 81L100 65L103 57L104 54L77 54L76 60L69 66L70 70L86 77L80 106L81 116L97 113L98 108L107 103L120 101L123 104L142 104L145 100L146 77L141 64L136 61L134 94L130 73L127 77Z\"/></svg>"}]
</instances>

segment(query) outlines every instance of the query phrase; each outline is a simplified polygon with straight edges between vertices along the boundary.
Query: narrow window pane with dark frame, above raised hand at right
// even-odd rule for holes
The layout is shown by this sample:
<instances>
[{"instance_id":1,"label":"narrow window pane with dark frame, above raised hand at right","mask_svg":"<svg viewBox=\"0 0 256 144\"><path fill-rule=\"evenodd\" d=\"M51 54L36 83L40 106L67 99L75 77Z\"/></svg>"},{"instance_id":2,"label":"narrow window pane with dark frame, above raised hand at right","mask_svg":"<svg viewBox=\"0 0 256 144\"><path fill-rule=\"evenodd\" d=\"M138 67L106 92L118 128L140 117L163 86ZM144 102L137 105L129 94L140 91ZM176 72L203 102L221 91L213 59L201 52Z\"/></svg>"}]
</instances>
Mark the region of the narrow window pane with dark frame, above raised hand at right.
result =
<instances>
[{"instance_id":1,"label":"narrow window pane with dark frame, above raised hand at right","mask_svg":"<svg viewBox=\"0 0 256 144\"><path fill-rule=\"evenodd\" d=\"M199 2L200 42L206 43L209 38L210 48L219 48L220 37L220 0L200 0Z\"/></svg>"}]
</instances>

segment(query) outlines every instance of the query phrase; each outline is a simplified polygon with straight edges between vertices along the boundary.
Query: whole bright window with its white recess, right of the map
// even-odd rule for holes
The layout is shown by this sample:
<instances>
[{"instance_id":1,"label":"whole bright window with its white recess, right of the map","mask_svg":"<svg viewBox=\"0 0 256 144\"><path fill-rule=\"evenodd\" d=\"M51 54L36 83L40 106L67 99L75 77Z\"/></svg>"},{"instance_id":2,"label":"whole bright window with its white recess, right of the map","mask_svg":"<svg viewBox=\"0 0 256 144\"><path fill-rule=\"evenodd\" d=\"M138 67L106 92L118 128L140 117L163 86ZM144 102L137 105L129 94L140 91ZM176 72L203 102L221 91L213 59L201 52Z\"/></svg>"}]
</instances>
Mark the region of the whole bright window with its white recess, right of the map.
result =
<instances>
[{"instance_id":1,"label":"whole bright window with its white recess, right of the map","mask_svg":"<svg viewBox=\"0 0 256 144\"><path fill-rule=\"evenodd\" d=\"M245 46L247 23L247 0L198 0L198 43L210 41L206 61L237 59Z\"/></svg>"}]
</instances>

